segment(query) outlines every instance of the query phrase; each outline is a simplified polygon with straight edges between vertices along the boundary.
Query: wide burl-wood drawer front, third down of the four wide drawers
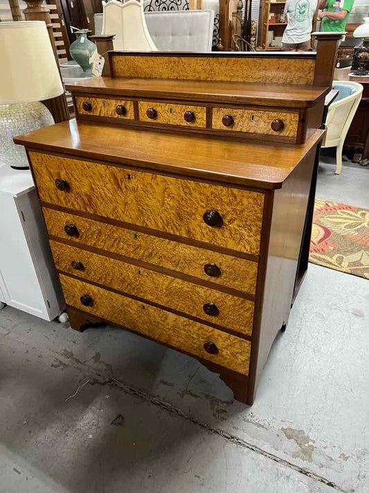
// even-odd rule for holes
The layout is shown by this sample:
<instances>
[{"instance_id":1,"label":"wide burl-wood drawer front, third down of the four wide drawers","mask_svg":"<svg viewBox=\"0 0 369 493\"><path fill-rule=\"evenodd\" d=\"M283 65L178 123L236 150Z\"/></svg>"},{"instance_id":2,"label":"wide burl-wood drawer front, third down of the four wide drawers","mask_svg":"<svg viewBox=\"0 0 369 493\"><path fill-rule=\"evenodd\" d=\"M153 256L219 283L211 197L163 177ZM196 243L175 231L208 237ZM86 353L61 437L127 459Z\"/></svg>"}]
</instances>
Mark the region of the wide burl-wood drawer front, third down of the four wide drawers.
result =
<instances>
[{"instance_id":1,"label":"wide burl-wood drawer front, third down of the four wide drawers","mask_svg":"<svg viewBox=\"0 0 369 493\"><path fill-rule=\"evenodd\" d=\"M249 300L56 241L50 244L55 266L64 273L251 335L254 304Z\"/></svg>"}]
</instances>

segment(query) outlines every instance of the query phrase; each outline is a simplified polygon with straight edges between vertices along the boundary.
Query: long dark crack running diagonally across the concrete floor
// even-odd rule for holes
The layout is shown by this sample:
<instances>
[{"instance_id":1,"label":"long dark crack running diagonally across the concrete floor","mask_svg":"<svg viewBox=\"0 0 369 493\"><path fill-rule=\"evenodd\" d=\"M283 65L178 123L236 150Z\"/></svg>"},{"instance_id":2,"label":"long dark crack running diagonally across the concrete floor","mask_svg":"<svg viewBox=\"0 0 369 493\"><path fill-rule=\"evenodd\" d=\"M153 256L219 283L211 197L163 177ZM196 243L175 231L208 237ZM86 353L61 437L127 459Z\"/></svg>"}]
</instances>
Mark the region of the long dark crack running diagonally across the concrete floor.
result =
<instances>
[{"instance_id":1,"label":"long dark crack running diagonally across the concrete floor","mask_svg":"<svg viewBox=\"0 0 369 493\"><path fill-rule=\"evenodd\" d=\"M318 483L323 483L324 485L330 486L334 488L336 491L339 491L341 493L349 493L346 490L343 490L339 485L334 483L333 481L328 480L327 478L320 476L319 474L314 473L313 471L310 471L309 469L306 469L305 467L300 467L296 464L293 464L292 462L289 462L288 460L282 459L278 456L273 455L273 453L264 451L263 449L260 449L260 447L256 447L255 445L246 442L246 440L243 440L242 438L238 438L236 435L232 435L231 433L228 433L227 431L224 431L219 428L215 428L214 426L210 426L209 424L206 424L204 422L198 421L195 419L195 417L192 417L191 415L188 415L185 413L183 410L177 408L176 406L173 406L167 401L163 401L162 399L159 399L158 397L154 395L150 395L149 393L140 390L138 388L131 387L127 385L126 383L123 383L119 380L116 379L92 379L89 377L89 385L98 385L98 386L114 386L118 387L120 390L125 392L127 395L131 395L133 397L136 397L137 399L141 399L141 401L145 401L149 404L152 404L154 406L158 406L159 408L167 411L170 413L172 416L176 417L181 417L183 420L187 420L191 422L192 424L195 424L196 426L200 426L200 428L205 429L206 431L210 433L214 433L215 435L219 435L220 437L224 438L224 440L227 440L228 442L237 445L238 447L242 447L243 449L248 449L251 450L255 453L260 454L261 456L264 456L265 458L268 458L270 460L273 460L273 462L277 462L280 465L284 465L285 467L289 467L290 469L294 469L296 472L303 474L304 476L307 476L314 481L317 481Z\"/></svg>"}]
</instances>

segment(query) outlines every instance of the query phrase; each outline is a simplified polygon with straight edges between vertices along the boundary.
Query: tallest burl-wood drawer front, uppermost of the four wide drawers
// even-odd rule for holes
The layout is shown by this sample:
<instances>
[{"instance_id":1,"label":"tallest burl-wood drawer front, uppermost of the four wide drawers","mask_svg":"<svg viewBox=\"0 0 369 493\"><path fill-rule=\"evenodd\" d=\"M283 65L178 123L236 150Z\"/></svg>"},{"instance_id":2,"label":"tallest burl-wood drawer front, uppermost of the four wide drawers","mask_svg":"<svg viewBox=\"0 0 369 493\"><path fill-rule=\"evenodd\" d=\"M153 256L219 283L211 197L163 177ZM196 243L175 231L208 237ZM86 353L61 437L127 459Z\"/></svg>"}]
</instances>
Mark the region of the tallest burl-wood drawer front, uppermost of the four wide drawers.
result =
<instances>
[{"instance_id":1,"label":"tallest burl-wood drawer front, uppermost of the four wide drawers","mask_svg":"<svg viewBox=\"0 0 369 493\"><path fill-rule=\"evenodd\" d=\"M259 254L263 193L41 153L30 159L44 202Z\"/></svg>"}]
</instances>

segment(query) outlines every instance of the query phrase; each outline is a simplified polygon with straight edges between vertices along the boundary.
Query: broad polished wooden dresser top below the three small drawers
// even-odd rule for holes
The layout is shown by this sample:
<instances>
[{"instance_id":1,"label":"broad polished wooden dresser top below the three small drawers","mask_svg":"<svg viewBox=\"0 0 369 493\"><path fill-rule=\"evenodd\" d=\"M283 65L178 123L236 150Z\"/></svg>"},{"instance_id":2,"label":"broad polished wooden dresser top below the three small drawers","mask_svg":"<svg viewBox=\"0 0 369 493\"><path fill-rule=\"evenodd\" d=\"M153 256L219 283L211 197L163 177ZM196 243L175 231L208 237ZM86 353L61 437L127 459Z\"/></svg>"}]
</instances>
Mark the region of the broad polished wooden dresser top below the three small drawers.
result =
<instances>
[{"instance_id":1,"label":"broad polished wooden dresser top below the three small drawers","mask_svg":"<svg viewBox=\"0 0 369 493\"><path fill-rule=\"evenodd\" d=\"M15 137L15 143L202 180L278 189L323 134L316 130L305 144L294 145L71 120Z\"/></svg>"}]
</instances>

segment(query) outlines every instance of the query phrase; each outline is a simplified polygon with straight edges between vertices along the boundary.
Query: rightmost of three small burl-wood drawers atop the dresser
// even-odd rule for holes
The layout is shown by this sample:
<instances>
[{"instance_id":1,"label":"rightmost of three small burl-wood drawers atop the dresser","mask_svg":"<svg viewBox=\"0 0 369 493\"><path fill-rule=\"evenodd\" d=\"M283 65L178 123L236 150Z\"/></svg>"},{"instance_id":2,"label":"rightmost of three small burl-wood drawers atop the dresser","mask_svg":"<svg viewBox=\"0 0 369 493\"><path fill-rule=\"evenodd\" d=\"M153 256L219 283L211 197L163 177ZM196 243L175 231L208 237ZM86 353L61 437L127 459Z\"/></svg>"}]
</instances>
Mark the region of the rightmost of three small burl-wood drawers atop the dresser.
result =
<instances>
[{"instance_id":1,"label":"rightmost of three small burl-wood drawers atop the dresser","mask_svg":"<svg viewBox=\"0 0 369 493\"><path fill-rule=\"evenodd\" d=\"M213 108L212 127L216 130L249 132L253 134L280 135L296 138L298 112L271 112Z\"/></svg>"}]
</instances>

